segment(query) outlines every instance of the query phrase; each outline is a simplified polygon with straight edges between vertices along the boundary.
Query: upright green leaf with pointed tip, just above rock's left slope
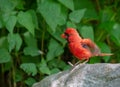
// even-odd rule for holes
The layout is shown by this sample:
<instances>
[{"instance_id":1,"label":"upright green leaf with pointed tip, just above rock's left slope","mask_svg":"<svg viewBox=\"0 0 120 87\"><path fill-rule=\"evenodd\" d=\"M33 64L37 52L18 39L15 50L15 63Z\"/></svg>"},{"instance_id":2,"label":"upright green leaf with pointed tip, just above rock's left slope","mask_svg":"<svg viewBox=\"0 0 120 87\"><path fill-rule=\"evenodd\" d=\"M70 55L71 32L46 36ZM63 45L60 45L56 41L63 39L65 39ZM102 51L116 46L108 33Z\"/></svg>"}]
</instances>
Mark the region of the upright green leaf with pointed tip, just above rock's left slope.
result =
<instances>
[{"instance_id":1,"label":"upright green leaf with pointed tip, just above rock's left slope","mask_svg":"<svg viewBox=\"0 0 120 87\"><path fill-rule=\"evenodd\" d=\"M46 61L42 58L41 63L38 65L39 71L43 74L51 74L49 67L47 66Z\"/></svg>"}]
</instances>

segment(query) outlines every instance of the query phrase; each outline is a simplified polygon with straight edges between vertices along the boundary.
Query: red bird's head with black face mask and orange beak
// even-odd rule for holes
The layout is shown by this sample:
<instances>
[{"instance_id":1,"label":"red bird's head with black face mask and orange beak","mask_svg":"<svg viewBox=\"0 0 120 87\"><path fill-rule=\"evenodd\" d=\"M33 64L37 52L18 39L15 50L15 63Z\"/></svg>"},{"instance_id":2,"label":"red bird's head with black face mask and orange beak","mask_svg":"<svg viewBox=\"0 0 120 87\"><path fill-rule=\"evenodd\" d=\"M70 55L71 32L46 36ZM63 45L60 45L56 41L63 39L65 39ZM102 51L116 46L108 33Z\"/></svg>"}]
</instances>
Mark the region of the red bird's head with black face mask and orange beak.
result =
<instances>
[{"instance_id":1,"label":"red bird's head with black face mask and orange beak","mask_svg":"<svg viewBox=\"0 0 120 87\"><path fill-rule=\"evenodd\" d=\"M62 36L62 38L68 39L70 36L74 36L74 35L79 36L77 30L74 28L67 28L61 36Z\"/></svg>"}]
</instances>

